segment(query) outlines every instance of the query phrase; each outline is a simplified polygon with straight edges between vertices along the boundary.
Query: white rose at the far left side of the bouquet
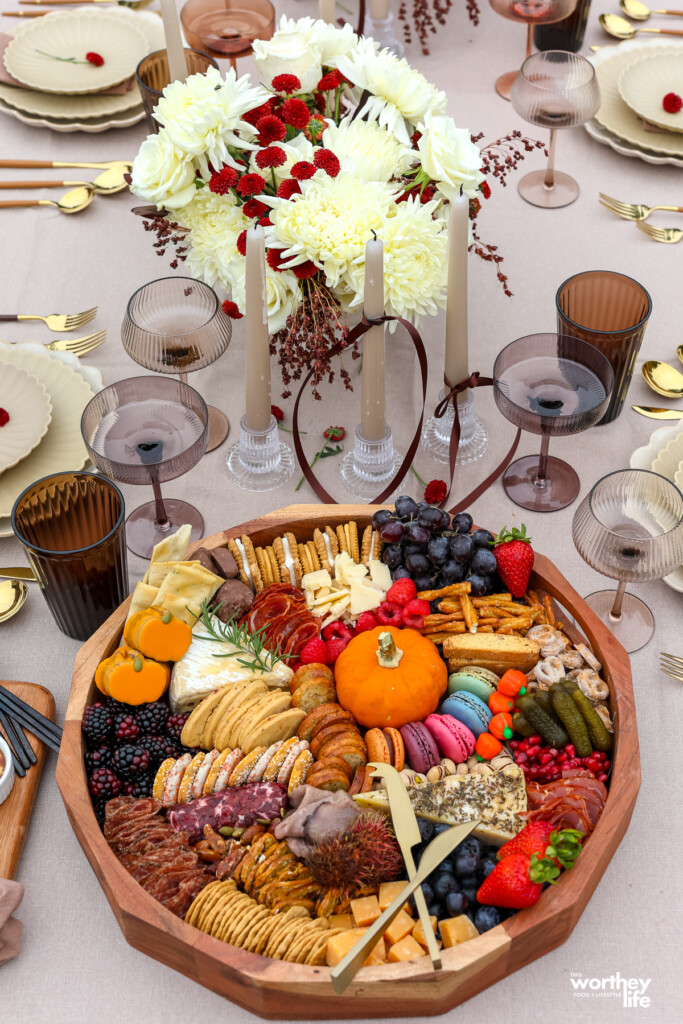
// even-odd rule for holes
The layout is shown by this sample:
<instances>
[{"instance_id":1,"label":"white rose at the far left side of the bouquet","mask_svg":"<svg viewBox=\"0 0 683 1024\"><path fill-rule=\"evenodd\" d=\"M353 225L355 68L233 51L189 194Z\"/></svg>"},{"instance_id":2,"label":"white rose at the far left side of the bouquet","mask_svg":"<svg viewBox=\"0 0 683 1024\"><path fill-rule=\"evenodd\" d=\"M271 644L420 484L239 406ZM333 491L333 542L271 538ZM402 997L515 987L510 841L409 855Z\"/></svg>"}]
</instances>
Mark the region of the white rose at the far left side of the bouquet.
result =
<instances>
[{"instance_id":1,"label":"white rose at the far left side of the bouquet","mask_svg":"<svg viewBox=\"0 0 683 1024\"><path fill-rule=\"evenodd\" d=\"M133 161L130 190L159 209L175 210L195 196L195 165L166 132L147 135Z\"/></svg>"}]
</instances>

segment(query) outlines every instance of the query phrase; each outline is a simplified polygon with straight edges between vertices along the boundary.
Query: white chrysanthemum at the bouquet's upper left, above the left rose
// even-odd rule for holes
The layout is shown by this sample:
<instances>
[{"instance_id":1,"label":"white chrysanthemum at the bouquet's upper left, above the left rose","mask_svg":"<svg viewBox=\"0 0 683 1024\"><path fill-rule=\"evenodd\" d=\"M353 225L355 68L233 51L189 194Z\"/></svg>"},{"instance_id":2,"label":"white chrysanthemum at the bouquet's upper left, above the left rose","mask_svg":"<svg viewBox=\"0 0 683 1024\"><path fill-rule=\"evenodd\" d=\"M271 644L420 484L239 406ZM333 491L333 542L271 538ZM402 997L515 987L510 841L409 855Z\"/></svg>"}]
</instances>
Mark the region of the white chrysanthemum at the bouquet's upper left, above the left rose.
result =
<instances>
[{"instance_id":1,"label":"white chrysanthemum at the bouquet's upper left, above the left rose","mask_svg":"<svg viewBox=\"0 0 683 1024\"><path fill-rule=\"evenodd\" d=\"M177 150L196 159L202 175L208 178L210 163L240 169L228 146L256 148L246 140L254 129L242 115L268 97L262 86L250 85L249 75L238 78L230 68L223 80L220 72L209 68L206 75L190 75L185 82L167 85L155 109L155 120L164 125Z\"/></svg>"}]
</instances>

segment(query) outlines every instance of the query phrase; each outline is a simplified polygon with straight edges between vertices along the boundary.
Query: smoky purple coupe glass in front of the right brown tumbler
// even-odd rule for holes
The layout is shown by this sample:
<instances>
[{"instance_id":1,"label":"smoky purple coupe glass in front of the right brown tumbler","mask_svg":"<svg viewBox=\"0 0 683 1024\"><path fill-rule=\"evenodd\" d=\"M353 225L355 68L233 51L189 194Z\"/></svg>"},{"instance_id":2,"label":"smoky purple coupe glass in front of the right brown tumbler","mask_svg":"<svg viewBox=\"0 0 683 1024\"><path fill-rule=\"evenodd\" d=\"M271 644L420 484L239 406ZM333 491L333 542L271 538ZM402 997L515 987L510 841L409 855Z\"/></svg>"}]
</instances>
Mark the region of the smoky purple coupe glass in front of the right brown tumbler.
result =
<instances>
[{"instance_id":1,"label":"smoky purple coupe glass in front of the right brown tumbler","mask_svg":"<svg viewBox=\"0 0 683 1024\"><path fill-rule=\"evenodd\" d=\"M516 505L555 512L577 498L579 476L568 463L548 455L550 438L594 426L607 407L612 381L607 358L579 338L529 334L499 352L496 404L506 420L542 437L541 455L517 459L503 476Z\"/></svg>"}]
</instances>

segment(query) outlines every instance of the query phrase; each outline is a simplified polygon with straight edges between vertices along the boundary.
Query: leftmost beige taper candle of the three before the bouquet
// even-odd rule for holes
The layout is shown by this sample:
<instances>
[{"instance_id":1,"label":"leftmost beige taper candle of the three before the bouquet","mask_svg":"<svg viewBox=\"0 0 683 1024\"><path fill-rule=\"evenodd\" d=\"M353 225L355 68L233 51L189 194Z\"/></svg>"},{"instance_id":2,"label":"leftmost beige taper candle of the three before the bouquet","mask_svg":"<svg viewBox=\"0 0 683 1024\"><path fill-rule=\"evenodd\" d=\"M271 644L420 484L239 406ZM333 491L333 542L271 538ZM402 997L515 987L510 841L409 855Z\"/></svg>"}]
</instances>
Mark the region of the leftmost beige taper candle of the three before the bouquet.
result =
<instances>
[{"instance_id":1,"label":"leftmost beige taper candle of the three before the bouquet","mask_svg":"<svg viewBox=\"0 0 683 1024\"><path fill-rule=\"evenodd\" d=\"M270 339L265 294L265 243L260 224L247 231L247 426L270 426Z\"/></svg>"}]
</instances>

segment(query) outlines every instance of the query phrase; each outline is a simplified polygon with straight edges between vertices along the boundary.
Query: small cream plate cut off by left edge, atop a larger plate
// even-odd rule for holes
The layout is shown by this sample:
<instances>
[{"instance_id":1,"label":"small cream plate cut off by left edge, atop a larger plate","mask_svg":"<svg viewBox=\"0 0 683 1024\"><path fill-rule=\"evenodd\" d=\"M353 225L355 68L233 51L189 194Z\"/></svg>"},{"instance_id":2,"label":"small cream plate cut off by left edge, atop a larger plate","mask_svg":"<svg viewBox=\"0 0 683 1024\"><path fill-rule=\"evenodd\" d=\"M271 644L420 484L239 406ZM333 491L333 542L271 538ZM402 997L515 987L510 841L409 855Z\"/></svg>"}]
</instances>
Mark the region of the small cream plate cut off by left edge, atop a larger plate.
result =
<instances>
[{"instance_id":1,"label":"small cream plate cut off by left edge, atop a larger plate","mask_svg":"<svg viewBox=\"0 0 683 1024\"><path fill-rule=\"evenodd\" d=\"M9 421L0 427L0 473L3 473L40 444L52 419L52 402L37 377L0 360L0 409L9 414Z\"/></svg>"}]
</instances>

